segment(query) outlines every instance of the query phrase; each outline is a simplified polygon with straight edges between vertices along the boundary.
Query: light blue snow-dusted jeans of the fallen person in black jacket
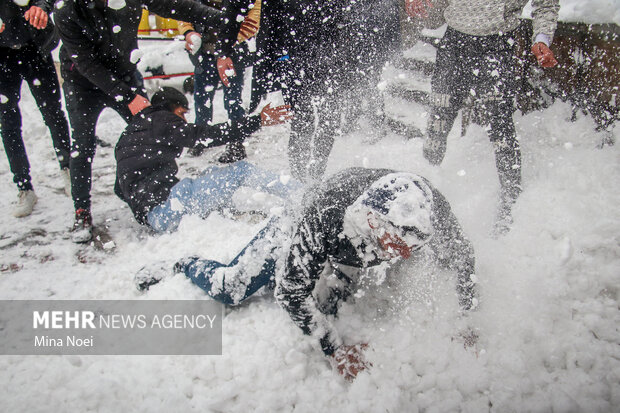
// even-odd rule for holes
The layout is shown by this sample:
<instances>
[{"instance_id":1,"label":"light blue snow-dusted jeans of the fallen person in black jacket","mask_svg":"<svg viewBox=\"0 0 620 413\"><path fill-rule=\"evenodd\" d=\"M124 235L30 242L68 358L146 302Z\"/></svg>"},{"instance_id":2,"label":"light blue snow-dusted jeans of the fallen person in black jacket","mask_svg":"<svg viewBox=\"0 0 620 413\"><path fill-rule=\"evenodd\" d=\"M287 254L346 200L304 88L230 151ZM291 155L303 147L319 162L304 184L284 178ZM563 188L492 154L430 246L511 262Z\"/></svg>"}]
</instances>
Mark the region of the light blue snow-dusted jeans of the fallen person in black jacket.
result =
<instances>
[{"instance_id":1,"label":"light blue snow-dusted jeans of the fallen person in black jacket","mask_svg":"<svg viewBox=\"0 0 620 413\"><path fill-rule=\"evenodd\" d=\"M174 231L185 215L206 217L213 210L230 205L233 194L242 186L286 199L298 185L293 181L283 184L278 175L246 161L212 166L198 178L177 182L166 201L147 214L147 222L155 231Z\"/></svg>"}]
</instances>

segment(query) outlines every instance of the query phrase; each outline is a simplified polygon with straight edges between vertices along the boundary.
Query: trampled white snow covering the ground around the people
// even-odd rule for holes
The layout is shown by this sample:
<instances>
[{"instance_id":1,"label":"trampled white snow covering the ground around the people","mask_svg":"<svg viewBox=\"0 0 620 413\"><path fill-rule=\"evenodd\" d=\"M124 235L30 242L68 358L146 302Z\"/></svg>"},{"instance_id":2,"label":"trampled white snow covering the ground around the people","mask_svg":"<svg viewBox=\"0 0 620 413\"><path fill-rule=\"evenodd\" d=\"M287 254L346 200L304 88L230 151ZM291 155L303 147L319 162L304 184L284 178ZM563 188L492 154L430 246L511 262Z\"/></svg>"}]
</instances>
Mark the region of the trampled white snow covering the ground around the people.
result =
<instances>
[{"instance_id":1,"label":"trampled white snow covering the ground around the people","mask_svg":"<svg viewBox=\"0 0 620 413\"><path fill-rule=\"evenodd\" d=\"M404 75L388 73L386 82ZM220 93L216 120L225 118ZM421 106L395 98L387 105L392 117L424 128ZM0 299L207 299L182 276L142 294L133 275L151 262L172 264L192 254L231 259L260 224L214 213L153 235L114 196L113 148L99 147L92 212L116 246L103 252L73 244L72 202L26 87L21 107L39 202L31 216L12 217L16 190L1 154ZM345 340L370 344L372 368L353 383L332 371L267 295L228 312L221 356L2 356L0 410L619 411L620 147L599 149L604 134L594 132L594 122L584 115L570 122L570 115L562 102L515 114L524 191L512 231L499 239L490 236L499 184L483 128L471 126L460 137L457 120L440 167L424 160L419 139L388 133L377 140L368 127L336 141L329 174L390 167L426 176L446 195L474 244L482 303L469 320L459 320L453 274L425 264L394 269L340 312ZM115 143L123 128L106 110L97 133ZM249 160L287 174L288 131L284 125L255 134ZM221 151L184 156L179 175L197 174ZM248 208L257 200L237 199ZM479 329L475 351L453 340L466 324Z\"/></svg>"}]
</instances>

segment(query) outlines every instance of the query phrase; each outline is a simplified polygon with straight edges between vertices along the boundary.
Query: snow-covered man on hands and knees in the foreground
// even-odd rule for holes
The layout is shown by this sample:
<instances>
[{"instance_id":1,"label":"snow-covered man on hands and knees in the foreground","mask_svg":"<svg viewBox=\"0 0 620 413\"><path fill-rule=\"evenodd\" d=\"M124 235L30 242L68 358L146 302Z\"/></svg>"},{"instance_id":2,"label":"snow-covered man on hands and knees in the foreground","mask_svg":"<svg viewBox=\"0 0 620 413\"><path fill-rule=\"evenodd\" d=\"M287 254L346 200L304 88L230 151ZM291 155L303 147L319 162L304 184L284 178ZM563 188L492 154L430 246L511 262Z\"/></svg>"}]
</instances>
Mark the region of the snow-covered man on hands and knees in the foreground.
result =
<instances>
[{"instance_id":1,"label":"snow-covered man on hands and knees in the foreground","mask_svg":"<svg viewBox=\"0 0 620 413\"><path fill-rule=\"evenodd\" d=\"M344 344L328 316L356 291L364 270L382 263L387 268L426 246L441 267L456 271L461 310L477 306L473 247L448 201L425 178L389 169L345 169L306 192L290 232L283 220L271 218L228 265L190 257L175 271L228 305L275 280L278 303L305 334L318 339L347 379L367 367L365 345ZM320 281L327 291L315 291L325 284Z\"/></svg>"}]
</instances>

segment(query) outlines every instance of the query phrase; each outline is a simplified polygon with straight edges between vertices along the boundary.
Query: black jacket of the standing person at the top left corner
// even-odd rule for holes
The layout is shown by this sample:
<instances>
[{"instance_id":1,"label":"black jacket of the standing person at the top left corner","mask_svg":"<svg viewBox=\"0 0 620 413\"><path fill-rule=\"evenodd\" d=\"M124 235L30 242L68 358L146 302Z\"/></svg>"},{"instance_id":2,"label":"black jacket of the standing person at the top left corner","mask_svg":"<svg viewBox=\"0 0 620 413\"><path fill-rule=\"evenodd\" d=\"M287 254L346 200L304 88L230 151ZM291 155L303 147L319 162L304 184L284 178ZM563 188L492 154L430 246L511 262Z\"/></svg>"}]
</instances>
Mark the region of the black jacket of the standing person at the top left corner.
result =
<instances>
[{"instance_id":1,"label":"black jacket of the standing person at the top left corner","mask_svg":"<svg viewBox=\"0 0 620 413\"><path fill-rule=\"evenodd\" d=\"M27 6L18 6L12 0L2 2L0 18L5 29L0 33L0 47L20 49L28 42L34 42L41 54L47 55L58 45L58 37L54 31L52 19L41 30L35 29L24 19L24 13L32 6L40 7L48 15L54 7L53 0L33 0Z\"/></svg>"}]
</instances>

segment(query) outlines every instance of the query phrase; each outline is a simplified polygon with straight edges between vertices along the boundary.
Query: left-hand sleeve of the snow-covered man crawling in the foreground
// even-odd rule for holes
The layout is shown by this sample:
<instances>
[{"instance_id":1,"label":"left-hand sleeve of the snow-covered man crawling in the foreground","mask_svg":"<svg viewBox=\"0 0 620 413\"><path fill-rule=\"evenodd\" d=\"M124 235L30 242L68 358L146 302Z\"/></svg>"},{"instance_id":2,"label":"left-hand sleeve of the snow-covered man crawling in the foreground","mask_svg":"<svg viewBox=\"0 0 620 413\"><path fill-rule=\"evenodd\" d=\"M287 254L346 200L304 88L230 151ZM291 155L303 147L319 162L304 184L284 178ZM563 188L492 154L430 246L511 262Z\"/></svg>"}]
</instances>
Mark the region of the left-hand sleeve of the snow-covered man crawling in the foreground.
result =
<instances>
[{"instance_id":1,"label":"left-hand sleeve of the snow-covered man crawling in the foreground","mask_svg":"<svg viewBox=\"0 0 620 413\"><path fill-rule=\"evenodd\" d=\"M304 334L317 337L323 352L331 355L342 342L312 294L328 260L323 234L316 209L306 211L277 282L276 300Z\"/></svg>"}]
</instances>

